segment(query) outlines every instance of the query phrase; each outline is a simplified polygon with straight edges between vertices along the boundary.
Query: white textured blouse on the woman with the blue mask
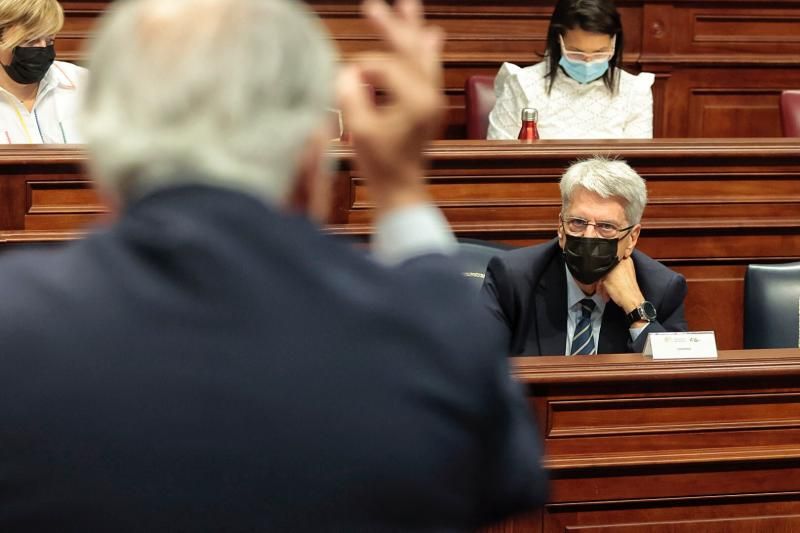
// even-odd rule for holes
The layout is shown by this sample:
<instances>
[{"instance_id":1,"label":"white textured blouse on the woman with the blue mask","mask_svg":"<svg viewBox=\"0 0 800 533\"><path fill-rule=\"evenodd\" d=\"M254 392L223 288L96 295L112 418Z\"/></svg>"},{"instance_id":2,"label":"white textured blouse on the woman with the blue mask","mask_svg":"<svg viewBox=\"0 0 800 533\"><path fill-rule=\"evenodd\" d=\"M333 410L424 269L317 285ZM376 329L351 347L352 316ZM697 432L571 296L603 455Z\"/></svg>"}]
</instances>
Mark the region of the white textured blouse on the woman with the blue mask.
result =
<instances>
[{"instance_id":1,"label":"white textured blouse on the woman with the blue mask","mask_svg":"<svg viewBox=\"0 0 800 533\"><path fill-rule=\"evenodd\" d=\"M548 95L547 68L545 61L526 68L503 63L494 80L488 139L516 139L526 107L539 111L542 139L653 138L653 74L618 69L619 89L612 95L602 78L581 84L559 72Z\"/></svg>"}]
</instances>

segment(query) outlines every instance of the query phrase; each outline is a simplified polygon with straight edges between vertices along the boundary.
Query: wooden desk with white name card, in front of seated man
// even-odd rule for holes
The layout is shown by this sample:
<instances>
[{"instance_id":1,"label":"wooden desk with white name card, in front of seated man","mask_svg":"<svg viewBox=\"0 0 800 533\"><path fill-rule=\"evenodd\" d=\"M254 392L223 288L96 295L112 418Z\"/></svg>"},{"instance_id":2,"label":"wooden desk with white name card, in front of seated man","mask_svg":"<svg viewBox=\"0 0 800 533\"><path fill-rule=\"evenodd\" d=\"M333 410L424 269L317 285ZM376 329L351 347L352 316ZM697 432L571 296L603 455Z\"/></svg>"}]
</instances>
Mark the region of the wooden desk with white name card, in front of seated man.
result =
<instances>
[{"instance_id":1,"label":"wooden desk with white name card, in front of seated man","mask_svg":"<svg viewBox=\"0 0 800 533\"><path fill-rule=\"evenodd\" d=\"M800 531L800 350L514 363L551 495L491 531Z\"/></svg>"}]
</instances>

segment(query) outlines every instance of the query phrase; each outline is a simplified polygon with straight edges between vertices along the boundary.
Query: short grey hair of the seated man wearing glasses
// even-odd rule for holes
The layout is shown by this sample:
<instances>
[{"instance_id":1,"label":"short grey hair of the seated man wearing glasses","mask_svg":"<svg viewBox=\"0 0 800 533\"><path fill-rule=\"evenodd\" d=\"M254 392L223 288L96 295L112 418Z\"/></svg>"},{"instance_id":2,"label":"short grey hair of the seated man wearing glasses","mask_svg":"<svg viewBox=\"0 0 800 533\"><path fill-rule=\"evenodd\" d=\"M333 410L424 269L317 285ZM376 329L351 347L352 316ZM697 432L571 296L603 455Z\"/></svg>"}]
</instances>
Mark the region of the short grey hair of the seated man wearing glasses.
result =
<instances>
[{"instance_id":1,"label":"short grey hair of the seated man wearing glasses","mask_svg":"<svg viewBox=\"0 0 800 533\"><path fill-rule=\"evenodd\" d=\"M566 211L575 188L591 191L601 198L619 198L624 203L628 224L642 221L647 205L647 186L644 179L625 161L593 156L570 166L561 177L561 205Z\"/></svg>"}]
</instances>

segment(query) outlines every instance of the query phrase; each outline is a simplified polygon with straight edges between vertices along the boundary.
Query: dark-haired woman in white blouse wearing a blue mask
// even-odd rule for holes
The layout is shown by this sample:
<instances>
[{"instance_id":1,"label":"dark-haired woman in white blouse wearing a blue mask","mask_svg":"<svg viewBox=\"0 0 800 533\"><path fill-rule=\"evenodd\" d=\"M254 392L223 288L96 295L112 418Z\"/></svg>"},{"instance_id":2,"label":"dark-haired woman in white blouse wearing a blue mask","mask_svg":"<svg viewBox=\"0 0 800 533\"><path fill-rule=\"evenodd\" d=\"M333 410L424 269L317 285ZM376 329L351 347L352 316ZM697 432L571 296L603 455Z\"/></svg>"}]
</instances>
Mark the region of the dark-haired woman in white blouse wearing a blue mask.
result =
<instances>
[{"instance_id":1,"label":"dark-haired woman in white blouse wearing a blue mask","mask_svg":"<svg viewBox=\"0 0 800 533\"><path fill-rule=\"evenodd\" d=\"M619 68L623 46L612 0L559 0L544 60L500 68L487 138L516 139L532 107L542 139L651 139L655 77Z\"/></svg>"}]
</instances>

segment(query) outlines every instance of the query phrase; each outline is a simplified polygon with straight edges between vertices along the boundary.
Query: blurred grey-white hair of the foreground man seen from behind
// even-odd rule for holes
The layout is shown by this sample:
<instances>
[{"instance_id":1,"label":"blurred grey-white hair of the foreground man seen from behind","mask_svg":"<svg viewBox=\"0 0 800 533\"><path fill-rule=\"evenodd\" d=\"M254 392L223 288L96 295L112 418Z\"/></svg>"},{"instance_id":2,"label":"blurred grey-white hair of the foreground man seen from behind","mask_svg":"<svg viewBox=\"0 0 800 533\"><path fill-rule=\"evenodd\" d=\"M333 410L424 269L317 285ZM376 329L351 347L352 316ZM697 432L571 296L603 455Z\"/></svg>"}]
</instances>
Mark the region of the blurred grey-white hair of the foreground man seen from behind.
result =
<instances>
[{"instance_id":1,"label":"blurred grey-white hair of the foreground man seen from behind","mask_svg":"<svg viewBox=\"0 0 800 533\"><path fill-rule=\"evenodd\" d=\"M81 129L122 199L186 183L284 202L331 106L336 55L294 0L123 0L89 54Z\"/></svg>"}]
</instances>

